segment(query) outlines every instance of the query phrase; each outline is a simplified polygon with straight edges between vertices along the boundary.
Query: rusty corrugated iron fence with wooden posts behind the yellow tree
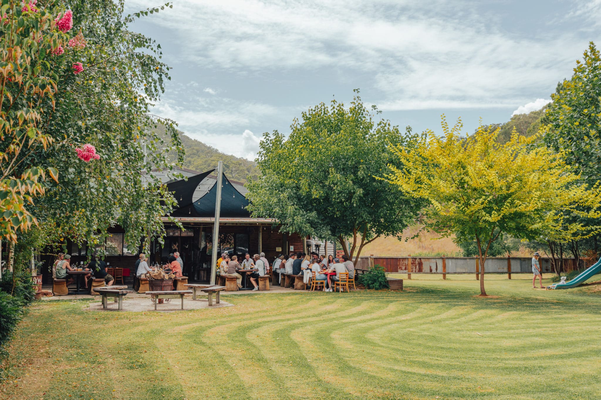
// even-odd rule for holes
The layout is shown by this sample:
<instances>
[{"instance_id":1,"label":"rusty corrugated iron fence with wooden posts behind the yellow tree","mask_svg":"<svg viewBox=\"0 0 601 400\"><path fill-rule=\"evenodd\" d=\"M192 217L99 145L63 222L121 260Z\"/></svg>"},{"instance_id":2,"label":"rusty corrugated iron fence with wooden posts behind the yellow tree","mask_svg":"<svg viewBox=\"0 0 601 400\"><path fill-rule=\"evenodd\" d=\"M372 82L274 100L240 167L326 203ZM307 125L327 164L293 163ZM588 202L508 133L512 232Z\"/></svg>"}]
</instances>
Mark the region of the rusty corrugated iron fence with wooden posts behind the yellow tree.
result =
<instances>
[{"instance_id":1,"label":"rusty corrugated iron fence with wooden posts behind the yellow tree","mask_svg":"<svg viewBox=\"0 0 601 400\"><path fill-rule=\"evenodd\" d=\"M509 261L509 262L508 262ZM558 260L559 261L559 260ZM371 266L380 264L386 272L400 273L476 273L480 271L477 257L379 257L362 256L355 262L355 267L370 269ZM484 263L484 272L507 273L511 267L511 273L532 273L531 257L489 257ZM541 257L538 259L543 272L554 272L551 258ZM584 267L584 260L580 260L580 267ZM563 259L563 270L576 269L576 260L573 258Z\"/></svg>"}]
</instances>

